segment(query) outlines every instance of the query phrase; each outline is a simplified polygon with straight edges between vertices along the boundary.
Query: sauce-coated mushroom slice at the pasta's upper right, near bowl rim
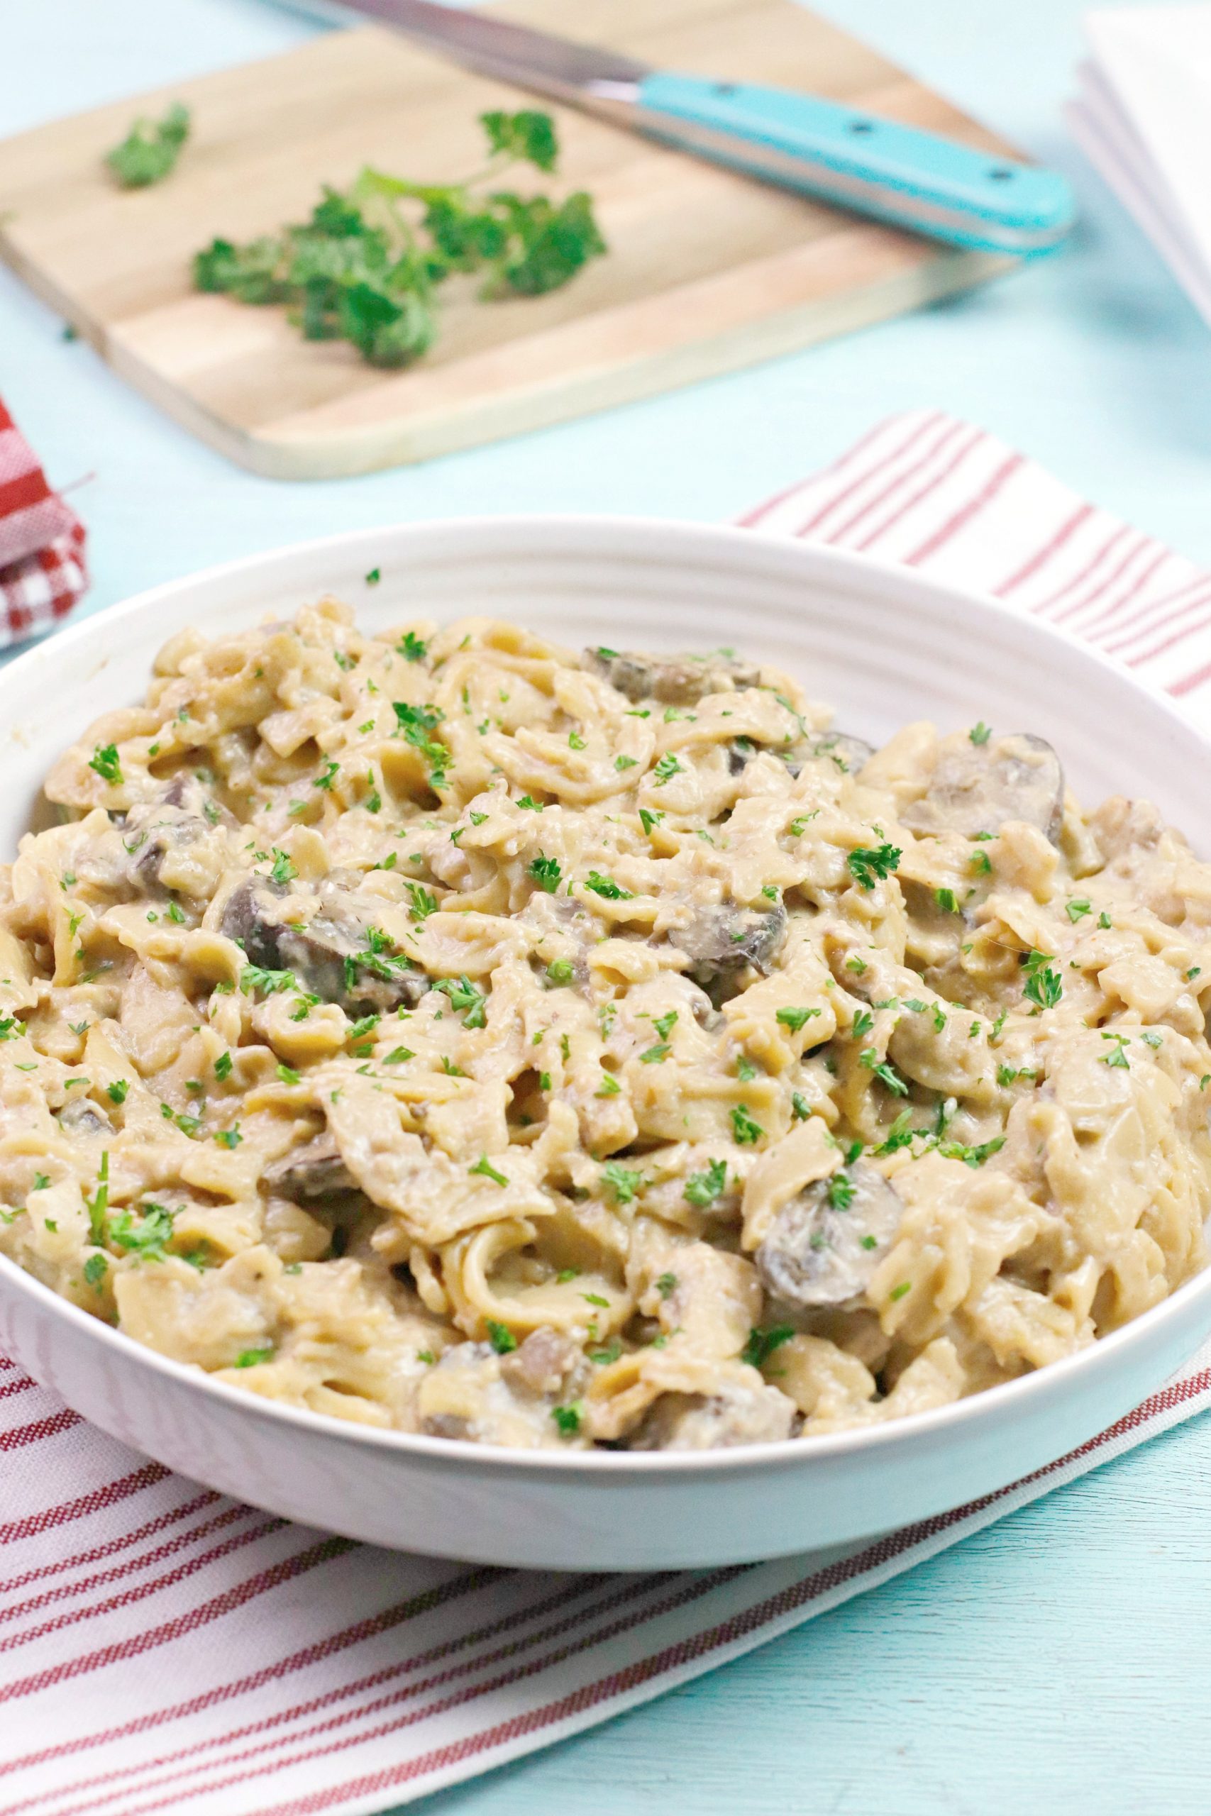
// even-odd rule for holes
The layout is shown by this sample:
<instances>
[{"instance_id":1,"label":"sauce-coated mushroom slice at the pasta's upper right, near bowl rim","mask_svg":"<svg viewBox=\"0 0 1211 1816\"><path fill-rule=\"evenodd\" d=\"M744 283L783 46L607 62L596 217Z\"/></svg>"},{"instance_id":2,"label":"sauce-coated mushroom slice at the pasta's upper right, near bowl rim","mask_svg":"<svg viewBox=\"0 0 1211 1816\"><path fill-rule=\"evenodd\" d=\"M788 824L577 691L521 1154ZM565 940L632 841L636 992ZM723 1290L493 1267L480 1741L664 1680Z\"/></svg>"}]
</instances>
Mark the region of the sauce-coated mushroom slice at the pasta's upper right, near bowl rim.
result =
<instances>
[{"instance_id":1,"label":"sauce-coated mushroom slice at the pasta's upper right, near bowl rim","mask_svg":"<svg viewBox=\"0 0 1211 1816\"><path fill-rule=\"evenodd\" d=\"M1064 819L1064 770L1051 745L1033 732L1011 732L973 745L948 737L933 766L930 792L904 808L913 832L959 832L973 839L1006 821L1037 826L1051 843Z\"/></svg>"}]
</instances>

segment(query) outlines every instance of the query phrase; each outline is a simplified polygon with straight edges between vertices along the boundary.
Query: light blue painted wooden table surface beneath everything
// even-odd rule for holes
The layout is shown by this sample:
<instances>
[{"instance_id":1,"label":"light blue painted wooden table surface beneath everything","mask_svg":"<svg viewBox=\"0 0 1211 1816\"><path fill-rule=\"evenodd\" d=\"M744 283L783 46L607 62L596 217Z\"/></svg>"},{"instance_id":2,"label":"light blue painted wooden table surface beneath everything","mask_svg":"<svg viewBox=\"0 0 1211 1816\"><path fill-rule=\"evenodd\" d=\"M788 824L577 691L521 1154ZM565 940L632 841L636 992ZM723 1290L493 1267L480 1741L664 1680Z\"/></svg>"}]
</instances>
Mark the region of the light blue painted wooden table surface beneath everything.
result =
<instances>
[{"instance_id":1,"label":"light blue painted wooden table surface beneath everything","mask_svg":"<svg viewBox=\"0 0 1211 1816\"><path fill-rule=\"evenodd\" d=\"M1211 334L1066 142L1078 0L821 0L1064 167L1064 256L906 321L428 467L283 487L227 467L0 274L0 390L87 472L96 610L325 530L479 510L730 518L890 410L937 405L1211 563ZM256 0L0 0L0 133L269 54ZM1202 1816L1211 1807L1211 1420L432 1816Z\"/></svg>"}]
</instances>

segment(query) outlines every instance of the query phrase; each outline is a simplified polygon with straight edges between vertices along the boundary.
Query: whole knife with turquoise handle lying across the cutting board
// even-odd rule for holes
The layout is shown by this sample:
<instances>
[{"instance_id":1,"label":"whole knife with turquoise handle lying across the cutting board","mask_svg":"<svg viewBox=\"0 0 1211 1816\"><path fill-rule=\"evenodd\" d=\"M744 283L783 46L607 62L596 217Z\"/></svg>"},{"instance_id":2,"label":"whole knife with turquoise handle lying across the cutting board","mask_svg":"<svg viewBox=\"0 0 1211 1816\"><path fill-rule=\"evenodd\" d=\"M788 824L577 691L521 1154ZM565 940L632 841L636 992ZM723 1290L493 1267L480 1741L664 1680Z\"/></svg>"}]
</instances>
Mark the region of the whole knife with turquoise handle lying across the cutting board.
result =
<instances>
[{"instance_id":1,"label":"whole knife with turquoise handle lying across the cutting board","mask_svg":"<svg viewBox=\"0 0 1211 1816\"><path fill-rule=\"evenodd\" d=\"M478 74L950 245L1028 256L1058 245L1075 220L1071 189L1057 173L841 102L661 71L432 0L283 4L332 22L376 18Z\"/></svg>"}]
</instances>

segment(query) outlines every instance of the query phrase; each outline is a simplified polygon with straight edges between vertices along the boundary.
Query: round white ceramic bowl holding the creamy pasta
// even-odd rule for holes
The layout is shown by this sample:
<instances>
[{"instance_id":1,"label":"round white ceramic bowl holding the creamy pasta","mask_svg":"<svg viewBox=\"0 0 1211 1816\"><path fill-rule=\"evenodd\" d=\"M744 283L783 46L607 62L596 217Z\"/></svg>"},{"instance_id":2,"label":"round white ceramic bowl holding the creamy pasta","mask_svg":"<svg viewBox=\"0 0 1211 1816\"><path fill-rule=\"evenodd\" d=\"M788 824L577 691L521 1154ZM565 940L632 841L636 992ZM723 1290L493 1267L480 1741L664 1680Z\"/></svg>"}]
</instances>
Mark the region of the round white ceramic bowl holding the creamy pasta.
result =
<instances>
[{"instance_id":1,"label":"round white ceramic bowl holding the creamy pasta","mask_svg":"<svg viewBox=\"0 0 1211 1816\"><path fill-rule=\"evenodd\" d=\"M1040 732L1084 801L1151 795L1211 852L1202 739L1160 696L1048 627L848 554L603 518L358 530L158 587L62 632L0 672L0 852L16 846L64 745L142 696L165 637L252 625L323 592L349 599L369 628L490 612L570 645L735 643L797 674L873 741L919 717ZM527 1453L260 1400L140 1347L0 1260L0 1347L125 1444L354 1538L561 1569L732 1564L921 1520L1082 1444L1209 1329L1211 1269L1082 1355L873 1431L703 1455Z\"/></svg>"}]
</instances>

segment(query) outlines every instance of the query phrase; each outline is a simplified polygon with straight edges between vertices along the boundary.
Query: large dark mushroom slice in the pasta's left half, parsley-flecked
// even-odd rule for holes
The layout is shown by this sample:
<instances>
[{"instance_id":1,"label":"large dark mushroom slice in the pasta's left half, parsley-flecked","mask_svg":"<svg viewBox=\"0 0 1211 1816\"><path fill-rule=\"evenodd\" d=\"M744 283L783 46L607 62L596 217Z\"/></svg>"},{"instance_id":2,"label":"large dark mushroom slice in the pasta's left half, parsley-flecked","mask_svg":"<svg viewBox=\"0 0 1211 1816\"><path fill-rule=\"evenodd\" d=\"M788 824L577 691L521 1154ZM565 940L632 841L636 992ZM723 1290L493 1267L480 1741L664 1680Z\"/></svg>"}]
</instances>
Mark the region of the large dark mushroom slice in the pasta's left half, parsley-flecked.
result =
<instances>
[{"instance_id":1,"label":"large dark mushroom slice in the pasta's left half, parsley-flecked","mask_svg":"<svg viewBox=\"0 0 1211 1816\"><path fill-rule=\"evenodd\" d=\"M399 953L374 950L378 903L329 877L314 890L296 883L292 892L314 895L318 912L305 924L281 917L287 890L271 877L247 877L232 892L222 928L243 946L249 964L292 972L301 990L350 1015L385 1015L419 1002L428 988L425 973L410 972Z\"/></svg>"}]
</instances>

